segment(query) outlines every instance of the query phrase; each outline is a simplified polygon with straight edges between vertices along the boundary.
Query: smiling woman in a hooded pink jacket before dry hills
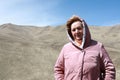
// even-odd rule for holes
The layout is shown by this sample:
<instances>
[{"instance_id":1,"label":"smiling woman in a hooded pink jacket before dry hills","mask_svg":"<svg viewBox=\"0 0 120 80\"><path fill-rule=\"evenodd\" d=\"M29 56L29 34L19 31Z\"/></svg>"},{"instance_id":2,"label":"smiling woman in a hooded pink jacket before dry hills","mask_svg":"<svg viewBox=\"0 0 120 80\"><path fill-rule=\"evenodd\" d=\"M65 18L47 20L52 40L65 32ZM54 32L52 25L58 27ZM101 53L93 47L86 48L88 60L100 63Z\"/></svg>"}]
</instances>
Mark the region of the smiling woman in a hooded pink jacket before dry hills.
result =
<instances>
[{"instance_id":1,"label":"smiling woman in a hooded pink jacket before dry hills","mask_svg":"<svg viewBox=\"0 0 120 80\"><path fill-rule=\"evenodd\" d=\"M91 39L85 21L67 21L70 42L65 44L54 67L56 80L115 80L115 67L102 43Z\"/></svg>"}]
</instances>

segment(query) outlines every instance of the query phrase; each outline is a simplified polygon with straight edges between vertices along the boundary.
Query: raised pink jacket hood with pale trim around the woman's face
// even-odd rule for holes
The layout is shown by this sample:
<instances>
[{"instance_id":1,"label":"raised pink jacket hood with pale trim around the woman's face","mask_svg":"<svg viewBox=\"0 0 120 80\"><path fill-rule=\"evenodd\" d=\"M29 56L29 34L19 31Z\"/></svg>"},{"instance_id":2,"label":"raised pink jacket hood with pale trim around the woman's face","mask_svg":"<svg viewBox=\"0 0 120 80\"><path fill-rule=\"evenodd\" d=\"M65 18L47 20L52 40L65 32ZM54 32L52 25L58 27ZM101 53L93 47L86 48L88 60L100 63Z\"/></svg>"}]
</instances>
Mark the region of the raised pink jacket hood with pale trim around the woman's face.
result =
<instances>
[{"instance_id":1,"label":"raised pink jacket hood with pale trim around the woman's face","mask_svg":"<svg viewBox=\"0 0 120 80\"><path fill-rule=\"evenodd\" d=\"M83 37L82 37L82 44L80 46L77 46L77 44L75 43L75 41L73 40L73 37L71 35L71 31L67 30L67 35L68 38L70 40L70 42L72 42L76 47L80 48L80 49L84 49L87 46L89 46L90 42L91 42L91 34L88 28L88 25L86 24L85 20L81 19L82 25L83 25Z\"/></svg>"}]
</instances>

